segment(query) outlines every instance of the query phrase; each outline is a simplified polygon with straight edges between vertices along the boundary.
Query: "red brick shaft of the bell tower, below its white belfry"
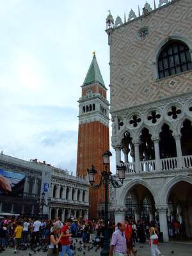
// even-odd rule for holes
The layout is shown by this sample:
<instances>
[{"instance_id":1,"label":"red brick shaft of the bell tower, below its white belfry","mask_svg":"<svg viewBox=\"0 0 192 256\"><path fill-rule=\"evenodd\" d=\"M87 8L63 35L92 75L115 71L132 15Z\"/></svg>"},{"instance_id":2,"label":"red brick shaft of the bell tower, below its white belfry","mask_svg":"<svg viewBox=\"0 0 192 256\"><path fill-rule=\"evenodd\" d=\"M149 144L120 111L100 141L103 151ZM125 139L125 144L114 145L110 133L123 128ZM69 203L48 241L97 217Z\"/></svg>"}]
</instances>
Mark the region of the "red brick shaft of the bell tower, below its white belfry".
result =
<instances>
[{"instance_id":1,"label":"red brick shaft of the bell tower, below its white belfry","mask_svg":"<svg viewBox=\"0 0 192 256\"><path fill-rule=\"evenodd\" d=\"M82 134L82 135L81 135ZM80 145L82 144L82 147ZM109 150L109 127L100 122L79 125L77 146L77 175L86 177L87 168L92 164L97 170L96 182L99 183L102 164L102 154ZM80 156L82 154L82 157ZM80 164L82 165L80 167ZM90 188L90 218L97 219L97 204L104 202L104 187L94 190Z\"/></svg>"}]
</instances>

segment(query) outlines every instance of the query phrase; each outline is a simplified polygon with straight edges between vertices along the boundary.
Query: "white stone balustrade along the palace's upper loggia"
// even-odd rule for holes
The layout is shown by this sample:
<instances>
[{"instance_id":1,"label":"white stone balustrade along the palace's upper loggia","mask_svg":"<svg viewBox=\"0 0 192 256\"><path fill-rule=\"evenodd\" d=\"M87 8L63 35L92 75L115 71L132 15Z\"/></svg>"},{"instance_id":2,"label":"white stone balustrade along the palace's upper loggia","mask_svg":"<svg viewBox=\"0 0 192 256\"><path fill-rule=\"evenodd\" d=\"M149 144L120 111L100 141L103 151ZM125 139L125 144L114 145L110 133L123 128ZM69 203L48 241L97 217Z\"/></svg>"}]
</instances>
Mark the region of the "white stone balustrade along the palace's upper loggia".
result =
<instances>
[{"instance_id":1,"label":"white stone balustrade along the palace's upper loggia","mask_svg":"<svg viewBox=\"0 0 192 256\"><path fill-rule=\"evenodd\" d=\"M172 157L159 159L160 164L158 164L156 159L148 161L140 161L138 167L136 168L135 163L125 163L127 167L126 174L129 173L147 173L156 171L166 171L166 170L180 170L192 168L192 156L182 156L182 157Z\"/></svg>"}]
</instances>

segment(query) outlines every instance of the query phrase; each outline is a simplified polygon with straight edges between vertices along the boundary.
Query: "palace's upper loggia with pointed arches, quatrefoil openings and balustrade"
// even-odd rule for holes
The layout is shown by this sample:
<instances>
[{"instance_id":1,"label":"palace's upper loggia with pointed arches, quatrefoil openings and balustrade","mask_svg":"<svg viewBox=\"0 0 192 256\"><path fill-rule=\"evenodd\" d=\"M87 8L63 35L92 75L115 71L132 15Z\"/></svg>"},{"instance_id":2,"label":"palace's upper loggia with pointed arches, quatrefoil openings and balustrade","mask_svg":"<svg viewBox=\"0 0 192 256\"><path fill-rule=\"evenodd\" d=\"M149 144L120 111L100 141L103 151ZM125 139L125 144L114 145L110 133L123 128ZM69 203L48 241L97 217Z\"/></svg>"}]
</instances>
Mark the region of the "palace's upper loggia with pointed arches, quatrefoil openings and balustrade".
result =
<instances>
[{"instance_id":1,"label":"palace's upper loggia with pointed arches, quatrefoil openings and balustrade","mask_svg":"<svg viewBox=\"0 0 192 256\"><path fill-rule=\"evenodd\" d=\"M113 116L112 145L127 173L192 167L191 99L125 116Z\"/></svg>"}]
</instances>

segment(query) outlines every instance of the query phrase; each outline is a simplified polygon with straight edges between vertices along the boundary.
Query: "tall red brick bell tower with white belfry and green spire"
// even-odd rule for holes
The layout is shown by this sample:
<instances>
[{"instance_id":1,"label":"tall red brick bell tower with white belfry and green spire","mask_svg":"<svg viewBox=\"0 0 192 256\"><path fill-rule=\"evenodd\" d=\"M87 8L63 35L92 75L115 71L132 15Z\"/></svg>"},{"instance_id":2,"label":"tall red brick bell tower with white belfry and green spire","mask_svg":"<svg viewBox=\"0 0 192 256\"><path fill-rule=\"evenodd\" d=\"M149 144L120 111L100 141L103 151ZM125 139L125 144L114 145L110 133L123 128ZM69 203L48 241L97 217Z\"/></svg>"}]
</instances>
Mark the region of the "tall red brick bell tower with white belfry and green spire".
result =
<instances>
[{"instance_id":1,"label":"tall red brick bell tower with white belfry and green spire","mask_svg":"<svg viewBox=\"0 0 192 256\"><path fill-rule=\"evenodd\" d=\"M103 170L102 154L109 150L109 102L107 89L93 52L93 60L84 79L79 99L79 133L77 145L77 175L86 177L92 164L99 182ZM89 193L90 219L99 218L98 204L104 203L104 188Z\"/></svg>"}]
</instances>

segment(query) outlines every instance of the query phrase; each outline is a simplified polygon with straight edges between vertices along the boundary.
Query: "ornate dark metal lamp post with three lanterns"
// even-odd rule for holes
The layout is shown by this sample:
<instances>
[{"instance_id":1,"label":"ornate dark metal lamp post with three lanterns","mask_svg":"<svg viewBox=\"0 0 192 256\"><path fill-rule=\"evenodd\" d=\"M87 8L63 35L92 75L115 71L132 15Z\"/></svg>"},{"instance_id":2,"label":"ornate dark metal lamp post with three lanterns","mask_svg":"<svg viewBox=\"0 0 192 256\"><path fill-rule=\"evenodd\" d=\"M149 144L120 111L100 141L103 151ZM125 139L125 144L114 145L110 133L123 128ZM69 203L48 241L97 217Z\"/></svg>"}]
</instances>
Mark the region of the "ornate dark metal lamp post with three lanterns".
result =
<instances>
[{"instance_id":1,"label":"ornate dark metal lamp post with three lanterns","mask_svg":"<svg viewBox=\"0 0 192 256\"><path fill-rule=\"evenodd\" d=\"M95 167L92 165L92 169L87 169L88 172L88 178L89 182L92 186L93 189L99 189L102 184L104 184L105 188L105 216L104 216L104 221L105 221L105 230L104 230L104 248L100 252L101 256L107 256L109 255L109 228L108 228L108 188L109 188L109 182L111 182L112 186L114 188L120 188L123 186L124 179L125 179L125 170L126 166L124 165L123 162L121 162L120 166L116 166L116 170L118 172L118 178L120 180L117 181L115 180L115 177L113 177L112 173L108 171L108 166L110 163L110 157L112 156L110 151L106 151L104 154L102 154L103 158L103 164L104 164L104 171L101 173L100 176L100 182L99 184L96 184L93 186L95 182L95 176L97 174L97 170Z\"/></svg>"}]
</instances>

